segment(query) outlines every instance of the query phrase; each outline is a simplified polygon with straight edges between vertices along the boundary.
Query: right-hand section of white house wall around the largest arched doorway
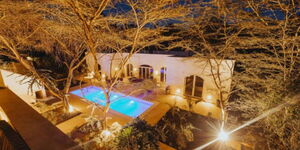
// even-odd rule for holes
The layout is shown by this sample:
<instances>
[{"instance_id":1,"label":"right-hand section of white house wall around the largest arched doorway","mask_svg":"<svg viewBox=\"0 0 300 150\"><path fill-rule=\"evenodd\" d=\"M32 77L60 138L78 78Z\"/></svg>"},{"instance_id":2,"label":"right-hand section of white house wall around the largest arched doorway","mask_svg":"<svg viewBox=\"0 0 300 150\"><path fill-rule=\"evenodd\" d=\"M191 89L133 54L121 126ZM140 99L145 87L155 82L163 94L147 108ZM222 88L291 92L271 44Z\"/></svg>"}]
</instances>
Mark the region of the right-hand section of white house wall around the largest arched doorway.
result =
<instances>
[{"instance_id":1,"label":"right-hand section of white house wall around the largest arched doorway","mask_svg":"<svg viewBox=\"0 0 300 150\"><path fill-rule=\"evenodd\" d=\"M210 60L213 61L213 60ZM231 76L233 71L234 61L223 60L219 63L220 77L224 90L229 92L231 86ZM192 58L192 57L171 57L167 61L167 85L173 87L172 91L175 93L180 89L181 94L185 87L185 78L191 75L197 75L204 80L202 98L206 99L207 95L212 95L213 99L218 99L218 88L214 82L212 72L217 72L217 65L212 62L213 69L206 59ZM226 97L227 95L225 95ZM213 101L215 102L215 101Z\"/></svg>"}]
</instances>

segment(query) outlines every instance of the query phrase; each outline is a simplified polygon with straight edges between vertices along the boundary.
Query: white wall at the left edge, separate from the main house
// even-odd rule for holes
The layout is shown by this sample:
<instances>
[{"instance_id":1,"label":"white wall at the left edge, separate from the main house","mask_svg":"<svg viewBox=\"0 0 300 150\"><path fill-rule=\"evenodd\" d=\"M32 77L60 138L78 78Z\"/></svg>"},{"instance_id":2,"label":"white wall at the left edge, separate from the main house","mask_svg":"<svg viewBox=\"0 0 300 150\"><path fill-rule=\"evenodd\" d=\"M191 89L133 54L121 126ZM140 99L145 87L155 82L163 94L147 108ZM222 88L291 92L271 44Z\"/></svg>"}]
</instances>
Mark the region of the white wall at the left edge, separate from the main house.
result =
<instances>
[{"instance_id":1,"label":"white wall at the left edge, separate from the main house","mask_svg":"<svg viewBox=\"0 0 300 150\"><path fill-rule=\"evenodd\" d=\"M34 83L32 86L32 91L29 86L30 78L26 76L13 73L7 70L0 70L0 76L4 81L4 85L9 88L12 92L18 95L26 103L35 102L35 92L42 90L45 94L45 88Z\"/></svg>"}]
</instances>

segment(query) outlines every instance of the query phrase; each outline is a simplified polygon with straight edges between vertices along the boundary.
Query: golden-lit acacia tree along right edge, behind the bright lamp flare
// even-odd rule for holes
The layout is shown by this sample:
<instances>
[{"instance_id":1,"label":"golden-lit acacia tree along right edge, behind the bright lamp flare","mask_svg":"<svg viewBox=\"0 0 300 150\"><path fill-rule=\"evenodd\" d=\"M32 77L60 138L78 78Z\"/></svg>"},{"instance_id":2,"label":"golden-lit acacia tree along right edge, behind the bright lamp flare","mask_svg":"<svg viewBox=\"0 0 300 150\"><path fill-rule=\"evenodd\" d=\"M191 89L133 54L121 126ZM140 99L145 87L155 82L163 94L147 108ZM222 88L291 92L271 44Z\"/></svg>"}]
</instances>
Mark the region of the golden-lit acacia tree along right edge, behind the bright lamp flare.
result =
<instances>
[{"instance_id":1,"label":"golden-lit acacia tree along right edge, behind the bright lamp flare","mask_svg":"<svg viewBox=\"0 0 300 150\"><path fill-rule=\"evenodd\" d=\"M249 13L240 14L245 32L240 35L240 68L235 87L238 100L230 109L242 118L254 118L263 111L288 102L299 87L299 14L296 1L247 1ZM271 14L271 15L268 15ZM251 17L250 17L251 16ZM232 107L231 107L232 106ZM268 149L299 149L299 103L285 107L253 125L263 129Z\"/></svg>"}]
</instances>

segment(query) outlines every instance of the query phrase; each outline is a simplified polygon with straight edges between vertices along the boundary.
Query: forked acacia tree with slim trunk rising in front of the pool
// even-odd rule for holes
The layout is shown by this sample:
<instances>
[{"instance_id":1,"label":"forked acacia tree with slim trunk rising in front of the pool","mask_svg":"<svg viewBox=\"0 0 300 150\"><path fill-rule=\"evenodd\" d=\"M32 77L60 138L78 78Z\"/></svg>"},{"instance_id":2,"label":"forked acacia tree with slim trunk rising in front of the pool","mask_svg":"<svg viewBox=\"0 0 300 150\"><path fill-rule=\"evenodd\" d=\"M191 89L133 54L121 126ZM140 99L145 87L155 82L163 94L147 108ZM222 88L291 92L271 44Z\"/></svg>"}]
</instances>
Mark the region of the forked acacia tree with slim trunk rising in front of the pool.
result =
<instances>
[{"instance_id":1,"label":"forked acacia tree with slim trunk rising in front of the pool","mask_svg":"<svg viewBox=\"0 0 300 150\"><path fill-rule=\"evenodd\" d=\"M74 14L78 22L78 34L83 38L87 52L92 56L93 84L104 91L106 105L104 107L104 127L107 126L107 113L111 104L110 93L118 84L128 60L148 46L162 46L162 42L176 37L163 36L166 22L180 19L187 10L172 1L65 1L68 12ZM115 6L121 4L127 9ZM103 11L106 12L103 12ZM101 55L110 55L109 80L103 80L98 68ZM106 54L105 54L106 53ZM113 64L118 70L113 71Z\"/></svg>"}]
</instances>

